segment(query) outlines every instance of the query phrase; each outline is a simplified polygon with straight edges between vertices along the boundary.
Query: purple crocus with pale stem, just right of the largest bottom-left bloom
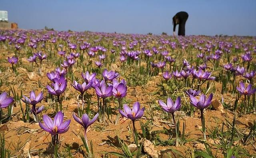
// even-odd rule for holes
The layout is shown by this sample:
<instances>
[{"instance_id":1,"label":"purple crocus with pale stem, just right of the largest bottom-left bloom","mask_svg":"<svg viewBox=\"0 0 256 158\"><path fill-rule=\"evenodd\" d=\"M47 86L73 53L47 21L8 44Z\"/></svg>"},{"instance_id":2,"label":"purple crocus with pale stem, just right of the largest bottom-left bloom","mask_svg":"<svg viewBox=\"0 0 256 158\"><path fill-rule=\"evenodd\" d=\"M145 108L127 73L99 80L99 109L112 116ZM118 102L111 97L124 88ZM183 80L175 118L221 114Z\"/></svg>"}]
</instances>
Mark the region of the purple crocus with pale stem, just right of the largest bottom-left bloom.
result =
<instances>
[{"instance_id":1,"label":"purple crocus with pale stem, just right of the largest bottom-left bloom","mask_svg":"<svg viewBox=\"0 0 256 158\"><path fill-rule=\"evenodd\" d=\"M73 113L73 118L74 120L76 120L77 123L79 123L80 125L82 125L82 127L84 127L84 137L85 140L87 142L87 128L92 125L92 123L94 123L96 121L96 119L98 118L99 113L97 113L92 120L90 120L90 118L88 117L88 115L85 113L84 115L82 115L82 119L80 117L77 117L75 113Z\"/></svg>"}]
</instances>

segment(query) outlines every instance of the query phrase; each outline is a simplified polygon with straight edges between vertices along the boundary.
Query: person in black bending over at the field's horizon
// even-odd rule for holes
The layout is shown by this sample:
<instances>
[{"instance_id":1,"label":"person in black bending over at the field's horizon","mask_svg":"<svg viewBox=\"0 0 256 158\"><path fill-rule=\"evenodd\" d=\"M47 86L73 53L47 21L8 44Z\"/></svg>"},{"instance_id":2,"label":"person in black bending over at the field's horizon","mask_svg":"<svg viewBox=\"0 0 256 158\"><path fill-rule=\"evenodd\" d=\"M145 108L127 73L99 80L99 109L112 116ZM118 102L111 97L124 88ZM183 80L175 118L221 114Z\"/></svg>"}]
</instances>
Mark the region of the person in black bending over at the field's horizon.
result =
<instances>
[{"instance_id":1,"label":"person in black bending over at the field's horizon","mask_svg":"<svg viewBox=\"0 0 256 158\"><path fill-rule=\"evenodd\" d=\"M176 23L176 19L178 19L178 23ZM179 31L178 35L185 35L185 24L186 21L188 20L188 13L187 12L178 12L173 18L173 31L175 32L176 25L179 24Z\"/></svg>"}]
</instances>

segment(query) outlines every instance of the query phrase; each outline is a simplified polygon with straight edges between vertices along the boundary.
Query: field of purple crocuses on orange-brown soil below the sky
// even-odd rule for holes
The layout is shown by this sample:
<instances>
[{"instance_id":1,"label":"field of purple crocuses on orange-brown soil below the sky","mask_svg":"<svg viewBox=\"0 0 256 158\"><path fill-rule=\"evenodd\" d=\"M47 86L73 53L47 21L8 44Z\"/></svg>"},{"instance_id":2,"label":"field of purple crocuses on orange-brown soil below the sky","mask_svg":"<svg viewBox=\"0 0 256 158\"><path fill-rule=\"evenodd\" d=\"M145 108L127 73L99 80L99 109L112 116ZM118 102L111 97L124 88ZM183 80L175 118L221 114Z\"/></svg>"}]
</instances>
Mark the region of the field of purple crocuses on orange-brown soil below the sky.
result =
<instances>
[{"instance_id":1,"label":"field of purple crocuses on orange-brown soil below the sky","mask_svg":"<svg viewBox=\"0 0 256 158\"><path fill-rule=\"evenodd\" d=\"M0 157L256 157L255 57L255 37L0 30Z\"/></svg>"}]
</instances>

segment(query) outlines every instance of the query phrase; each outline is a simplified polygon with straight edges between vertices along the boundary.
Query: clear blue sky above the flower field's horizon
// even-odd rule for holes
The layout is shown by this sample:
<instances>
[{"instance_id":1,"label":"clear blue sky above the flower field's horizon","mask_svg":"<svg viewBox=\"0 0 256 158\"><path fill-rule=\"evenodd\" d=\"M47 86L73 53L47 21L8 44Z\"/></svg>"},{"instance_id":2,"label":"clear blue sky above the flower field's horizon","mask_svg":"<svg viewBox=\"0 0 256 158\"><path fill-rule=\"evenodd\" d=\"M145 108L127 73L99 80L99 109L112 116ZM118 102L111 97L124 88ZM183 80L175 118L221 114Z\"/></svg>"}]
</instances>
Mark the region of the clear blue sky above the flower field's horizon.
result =
<instances>
[{"instance_id":1,"label":"clear blue sky above the flower field's horizon","mask_svg":"<svg viewBox=\"0 0 256 158\"><path fill-rule=\"evenodd\" d=\"M23 29L169 35L186 11L186 35L256 36L256 0L0 0L0 10Z\"/></svg>"}]
</instances>

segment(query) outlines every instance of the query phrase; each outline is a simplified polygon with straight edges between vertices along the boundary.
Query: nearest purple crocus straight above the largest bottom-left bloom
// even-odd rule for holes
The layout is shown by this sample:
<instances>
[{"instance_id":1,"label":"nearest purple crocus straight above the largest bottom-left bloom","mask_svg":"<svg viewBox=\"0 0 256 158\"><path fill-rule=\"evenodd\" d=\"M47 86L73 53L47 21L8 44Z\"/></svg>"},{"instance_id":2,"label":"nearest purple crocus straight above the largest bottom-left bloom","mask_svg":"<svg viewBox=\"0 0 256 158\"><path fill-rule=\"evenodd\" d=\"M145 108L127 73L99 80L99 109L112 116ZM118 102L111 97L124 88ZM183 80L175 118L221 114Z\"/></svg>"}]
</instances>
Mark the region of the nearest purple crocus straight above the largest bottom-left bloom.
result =
<instances>
[{"instance_id":1,"label":"nearest purple crocus straight above the largest bottom-left bloom","mask_svg":"<svg viewBox=\"0 0 256 158\"><path fill-rule=\"evenodd\" d=\"M56 81L56 80L55 80ZM46 86L46 89L48 90L48 93L54 95L54 96L60 96L67 88L67 80L64 80L63 83L53 83L53 88L49 85Z\"/></svg>"}]
</instances>

